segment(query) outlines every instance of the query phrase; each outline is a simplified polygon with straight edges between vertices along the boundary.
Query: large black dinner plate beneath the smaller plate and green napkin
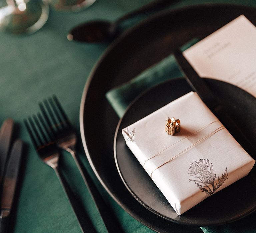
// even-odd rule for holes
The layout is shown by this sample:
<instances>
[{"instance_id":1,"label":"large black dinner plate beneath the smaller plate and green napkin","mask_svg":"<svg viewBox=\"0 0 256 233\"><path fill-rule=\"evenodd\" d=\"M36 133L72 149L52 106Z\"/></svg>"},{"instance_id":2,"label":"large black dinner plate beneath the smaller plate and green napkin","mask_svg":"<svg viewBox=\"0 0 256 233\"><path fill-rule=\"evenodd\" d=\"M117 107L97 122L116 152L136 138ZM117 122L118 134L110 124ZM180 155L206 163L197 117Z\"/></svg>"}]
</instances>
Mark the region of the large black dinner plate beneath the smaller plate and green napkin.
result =
<instances>
[{"instance_id":1,"label":"large black dinner plate beneath the smaller plate and green napkin","mask_svg":"<svg viewBox=\"0 0 256 233\"><path fill-rule=\"evenodd\" d=\"M256 24L256 10L237 5L200 5L157 14L119 37L102 55L85 85L80 130L90 165L117 203L155 231L197 232L198 228L176 227L177 224L144 208L126 189L116 169L113 151L119 118L107 102L105 93L129 81L192 38L207 36L241 14ZM211 223L212 219L208 219L207 225ZM196 225L196 221L193 224Z\"/></svg>"}]
</instances>

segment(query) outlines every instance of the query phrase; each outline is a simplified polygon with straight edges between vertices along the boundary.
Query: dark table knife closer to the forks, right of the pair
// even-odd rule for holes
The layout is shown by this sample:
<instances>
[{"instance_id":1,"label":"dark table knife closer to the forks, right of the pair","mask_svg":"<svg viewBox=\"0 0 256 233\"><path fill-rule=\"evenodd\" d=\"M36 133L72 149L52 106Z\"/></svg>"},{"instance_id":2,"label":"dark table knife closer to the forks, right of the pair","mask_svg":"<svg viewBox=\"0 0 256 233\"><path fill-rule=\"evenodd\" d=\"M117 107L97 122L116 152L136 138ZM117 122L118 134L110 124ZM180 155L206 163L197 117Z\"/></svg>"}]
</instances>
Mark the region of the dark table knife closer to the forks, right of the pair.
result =
<instances>
[{"instance_id":1,"label":"dark table knife closer to the forks, right of the pair","mask_svg":"<svg viewBox=\"0 0 256 233\"><path fill-rule=\"evenodd\" d=\"M7 232L9 216L20 168L22 147L23 141L21 139L15 140L6 165L1 193L0 233Z\"/></svg>"}]
</instances>

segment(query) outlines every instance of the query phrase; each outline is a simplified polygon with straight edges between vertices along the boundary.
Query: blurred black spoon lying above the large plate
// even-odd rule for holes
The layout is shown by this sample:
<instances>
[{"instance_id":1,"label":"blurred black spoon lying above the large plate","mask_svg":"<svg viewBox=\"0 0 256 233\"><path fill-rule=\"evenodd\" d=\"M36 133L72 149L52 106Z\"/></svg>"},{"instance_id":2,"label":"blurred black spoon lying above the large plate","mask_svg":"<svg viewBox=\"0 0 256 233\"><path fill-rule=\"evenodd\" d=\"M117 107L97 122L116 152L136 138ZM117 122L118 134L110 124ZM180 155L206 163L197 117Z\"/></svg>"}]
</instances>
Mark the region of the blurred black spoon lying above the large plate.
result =
<instances>
[{"instance_id":1,"label":"blurred black spoon lying above the large plate","mask_svg":"<svg viewBox=\"0 0 256 233\"><path fill-rule=\"evenodd\" d=\"M155 0L113 22L95 20L82 23L73 28L67 35L67 38L70 41L76 40L87 43L112 41L121 33L120 25L127 19L146 13L157 12L177 1L178 0Z\"/></svg>"}]
</instances>

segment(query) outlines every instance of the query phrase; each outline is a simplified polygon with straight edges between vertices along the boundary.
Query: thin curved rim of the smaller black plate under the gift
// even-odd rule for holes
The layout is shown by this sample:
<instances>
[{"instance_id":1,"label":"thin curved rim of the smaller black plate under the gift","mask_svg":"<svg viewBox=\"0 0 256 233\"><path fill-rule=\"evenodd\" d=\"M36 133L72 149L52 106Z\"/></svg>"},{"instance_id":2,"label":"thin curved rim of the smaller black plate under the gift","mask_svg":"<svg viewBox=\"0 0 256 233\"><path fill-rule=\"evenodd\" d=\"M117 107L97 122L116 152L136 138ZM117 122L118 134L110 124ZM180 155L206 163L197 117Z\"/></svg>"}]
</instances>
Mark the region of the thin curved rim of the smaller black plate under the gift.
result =
<instances>
[{"instance_id":1,"label":"thin curved rim of the smaller black plate under the gift","mask_svg":"<svg viewBox=\"0 0 256 233\"><path fill-rule=\"evenodd\" d=\"M147 92L150 92L152 89L156 88L157 86L160 86L160 85L163 85L164 83L168 83L168 82L173 82L175 83L176 81L180 80L180 79L184 79L183 77L179 77L179 78L174 78L174 79L171 79L171 80L167 80L163 83L160 83L154 87L151 87L147 90L145 90L144 92L142 92L141 94L139 94L129 105L128 107L126 108L125 110L125 113L124 115L119 119L118 121L118 124L117 124L117 127L116 127L116 131L115 131L115 136L114 136L114 157L115 157L115 163L116 163L116 167L117 167L117 170L118 170L118 173L125 185L125 187L128 189L128 191L132 194L132 196L142 205L144 206L145 208L147 208L148 210L150 210L152 213L168 220L168 221L171 221L171 222L174 222L174 223L178 223L178 224L182 224L182 225L189 225L189 226L199 226L199 227L208 227L208 226L218 226L218 225L223 225L223 224L228 224L228 223L231 223L231 222L234 222L234 221L237 221L239 219L242 219L244 217L246 217L247 215L253 213L255 210L256 210L256 206L254 206L254 208L252 208L250 211L247 211L246 213L243 213L241 214L240 216L236 217L236 218L232 218L230 219L229 221L223 221L223 222L219 222L219 223L214 223L214 224L207 224L207 225L204 225L204 224L197 224L197 223L181 223L180 221L177 221L175 219L172 219L172 218L169 218L159 212L157 212L156 210L152 209L150 206L148 206L144 201L142 201L135 193L134 191L132 190L132 188L127 184L125 178L123 177L123 174L122 174L122 171L120 170L119 168L119 164L118 164L118 160L117 160L117 153L116 153L116 141L117 141L117 136L118 136L118 132L120 130L120 125L123 121L123 118L125 117L125 115L127 114L127 112L129 112L130 108L134 105L134 103L136 103L137 100L139 100L142 96L144 96ZM205 78L205 79L211 79L211 78ZM215 80L215 79L214 79ZM223 81L220 81L220 80L216 80L220 83L225 83ZM229 83L228 83L229 84ZM234 86L232 84L229 84L231 86ZM235 88L238 88L237 86L234 86ZM243 89L241 89L243 90ZM245 90L243 90L244 92L246 92ZM246 92L248 95L251 95L250 93ZM153 181L152 181L153 182Z\"/></svg>"}]
</instances>

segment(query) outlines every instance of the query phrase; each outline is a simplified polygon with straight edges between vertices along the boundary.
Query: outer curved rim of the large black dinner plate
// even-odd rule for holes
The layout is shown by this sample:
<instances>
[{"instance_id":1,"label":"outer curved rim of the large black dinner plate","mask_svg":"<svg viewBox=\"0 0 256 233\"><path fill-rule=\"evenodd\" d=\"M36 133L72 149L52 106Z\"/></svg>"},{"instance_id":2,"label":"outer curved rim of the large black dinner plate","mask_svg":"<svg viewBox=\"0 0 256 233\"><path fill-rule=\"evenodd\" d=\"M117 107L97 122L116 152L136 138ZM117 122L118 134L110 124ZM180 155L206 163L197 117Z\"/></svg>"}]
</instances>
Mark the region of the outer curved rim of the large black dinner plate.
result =
<instances>
[{"instance_id":1,"label":"outer curved rim of the large black dinner plate","mask_svg":"<svg viewBox=\"0 0 256 233\"><path fill-rule=\"evenodd\" d=\"M99 175L97 169L94 166L94 163L92 162L90 153L88 151L87 148L87 142L86 142L86 138L85 138L85 131L84 131L84 107L85 107L85 102L86 102L86 97L87 97L87 92L90 88L90 84L91 81L94 77L94 74L96 73L98 67L101 65L101 63L104 61L105 57L108 56L108 54L112 51L112 49L114 47L116 47L127 35L129 35L133 30L135 29L139 29L140 27L143 27L144 24L146 23L150 23L151 21L154 21L155 19L157 19L160 16L164 16L166 14L172 14L172 13L178 13L178 12L182 12L182 11L186 11L186 10L190 10L190 9L205 9L205 8L210 8L210 7L222 7L222 6L226 6L226 7L242 7L243 9L251 9L251 7L249 6L244 6L244 5L239 5L239 4L229 4L229 3L205 3L205 4L198 4L198 5L193 5L193 6L185 6L185 7L180 7L180 8L176 8L176 9L168 9L159 13L154 14L153 16L151 16L150 18L147 18L143 21L141 21L140 23L138 23L136 26L127 29L122 35L120 35L112 44L110 44L105 51L103 52L103 54L100 56L100 58L98 59L98 61L95 63L95 65L93 66L87 81L85 83L85 87L82 93L82 98L81 98L81 104L80 104L80 112L79 112L79 122L80 122L80 134L81 134L81 139L82 139L82 143L83 143L83 147L85 150L85 154L86 157L89 161L89 164L93 170L93 172L95 173L96 177L98 178L98 180L100 181L101 185L104 187L104 189L108 192L108 194L127 212L129 213L131 216L134 216L133 211L130 210L127 206L124 206L122 204L122 202L109 190L109 188L105 185L105 183L103 182L103 180L101 179L101 176ZM144 219L141 218L136 218L139 222L146 224L146 221ZM209 225L210 226L210 225ZM151 227L150 227L151 228ZM152 229L152 228L151 228Z\"/></svg>"}]
</instances>

